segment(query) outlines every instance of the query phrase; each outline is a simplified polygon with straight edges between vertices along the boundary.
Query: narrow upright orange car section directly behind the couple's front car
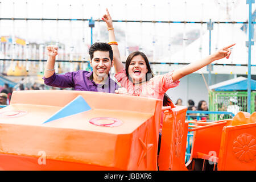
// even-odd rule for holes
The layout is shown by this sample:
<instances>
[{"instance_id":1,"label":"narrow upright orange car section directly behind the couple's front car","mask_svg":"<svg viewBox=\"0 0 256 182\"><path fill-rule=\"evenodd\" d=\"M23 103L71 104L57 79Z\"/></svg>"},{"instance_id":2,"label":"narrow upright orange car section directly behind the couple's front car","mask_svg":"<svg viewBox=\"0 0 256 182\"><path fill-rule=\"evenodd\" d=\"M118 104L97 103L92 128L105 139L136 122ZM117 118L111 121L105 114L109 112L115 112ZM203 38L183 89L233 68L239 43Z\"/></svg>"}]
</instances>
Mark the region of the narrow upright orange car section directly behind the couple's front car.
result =
<instances>
[{"instance_id":1,"label":"narrow upright orange car section directly behind the couple's front car","mask_svg":"<svg viewBox=\"0 0 256 182\"><path fill-rule=\"evenodd\" d=\"M185 123L187 107L175 106L164 111L159 170L184 171L188 123Z\"/></svg>"}]
</instances>

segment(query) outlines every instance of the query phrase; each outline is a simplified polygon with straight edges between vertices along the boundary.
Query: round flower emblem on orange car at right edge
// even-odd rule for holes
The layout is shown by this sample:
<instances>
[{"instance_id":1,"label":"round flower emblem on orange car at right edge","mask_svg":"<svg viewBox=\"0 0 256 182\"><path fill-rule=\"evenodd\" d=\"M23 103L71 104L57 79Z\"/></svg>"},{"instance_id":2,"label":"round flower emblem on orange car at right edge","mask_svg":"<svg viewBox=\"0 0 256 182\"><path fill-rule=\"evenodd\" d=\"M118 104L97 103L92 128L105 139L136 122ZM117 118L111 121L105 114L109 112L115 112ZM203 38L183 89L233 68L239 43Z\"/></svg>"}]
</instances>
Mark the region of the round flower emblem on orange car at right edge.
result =
<instances>
[{"instance_id":1,"label":"round flower emblem on orange car at right edge","mask_svg":"<svg viewBox=\"0 0 256 182\"><path fill-rule=\"evenodd\" d=\"M256 158L256 138L243 133L233 143L233 152L238 160L244 163L253 162Z\"/></svg>"}]
</instances>

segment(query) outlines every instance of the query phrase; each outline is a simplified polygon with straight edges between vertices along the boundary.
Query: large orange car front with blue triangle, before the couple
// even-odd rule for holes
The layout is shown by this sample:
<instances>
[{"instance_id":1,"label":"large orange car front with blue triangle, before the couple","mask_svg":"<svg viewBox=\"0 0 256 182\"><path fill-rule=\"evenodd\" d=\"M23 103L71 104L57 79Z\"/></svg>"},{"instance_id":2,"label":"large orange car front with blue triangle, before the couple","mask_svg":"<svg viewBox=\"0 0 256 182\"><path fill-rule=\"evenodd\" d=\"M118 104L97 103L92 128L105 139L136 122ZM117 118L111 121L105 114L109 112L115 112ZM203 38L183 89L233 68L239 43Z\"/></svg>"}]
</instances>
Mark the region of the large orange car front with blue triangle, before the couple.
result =
<instances>
[{"instance_id":1,"label":"large orange car front with blue triangle, before the couple","mask_svg":"<svg viewBox=\"0 0 256 182\"><path fill-rule=\"evenodd\" d=\"M157 170L162 101L15 91L0 111L2 170Z\"/></svg>"}]
</instances>

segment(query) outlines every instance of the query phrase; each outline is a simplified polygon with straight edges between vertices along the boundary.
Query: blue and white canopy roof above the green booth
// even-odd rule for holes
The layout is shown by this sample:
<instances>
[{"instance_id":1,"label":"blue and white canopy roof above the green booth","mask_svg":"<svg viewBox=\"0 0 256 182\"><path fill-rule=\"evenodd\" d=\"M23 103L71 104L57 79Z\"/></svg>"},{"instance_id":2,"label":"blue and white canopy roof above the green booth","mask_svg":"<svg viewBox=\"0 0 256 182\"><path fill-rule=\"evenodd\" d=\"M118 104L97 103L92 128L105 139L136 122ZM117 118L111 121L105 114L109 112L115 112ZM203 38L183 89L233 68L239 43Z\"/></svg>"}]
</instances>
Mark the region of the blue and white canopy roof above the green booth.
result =
<instances>
[{"instance_id":1,"label":"blue and white canopy roof above the green booth","mask_svg":"<svg viewBox=\"0 0 256 182\"><path fill-rule=\"evenodd\" d=\"M209 89L215 91L247 90L247 78L237 77L219 82L218 84L209 86ZM256 80L251 79L251 90L256 90Z\"/></svg>"}]
</instances>

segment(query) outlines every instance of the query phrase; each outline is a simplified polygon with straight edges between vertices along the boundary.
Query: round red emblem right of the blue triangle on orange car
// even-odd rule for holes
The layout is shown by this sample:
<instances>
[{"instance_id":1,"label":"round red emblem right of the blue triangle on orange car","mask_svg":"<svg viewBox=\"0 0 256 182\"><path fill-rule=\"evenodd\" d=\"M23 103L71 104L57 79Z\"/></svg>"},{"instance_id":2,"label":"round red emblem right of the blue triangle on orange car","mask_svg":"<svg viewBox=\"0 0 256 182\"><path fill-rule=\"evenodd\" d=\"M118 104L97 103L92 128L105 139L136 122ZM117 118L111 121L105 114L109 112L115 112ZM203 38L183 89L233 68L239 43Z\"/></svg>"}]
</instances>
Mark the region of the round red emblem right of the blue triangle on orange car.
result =
<instances>
[{"instance_id":1,"label":"round red emblem right of the blue triangle on orange car","mask_svg":"<svg viewBox=\"0 0 256 182\"><path fill-rule=\"evenodd\" d=\"M108 117L99 117L99 118L92 118L89 122L96 126L105 126L105 127L114 127L122 125L122 121L115 118L108 118Z\"/></svg>"}]
</instances>

